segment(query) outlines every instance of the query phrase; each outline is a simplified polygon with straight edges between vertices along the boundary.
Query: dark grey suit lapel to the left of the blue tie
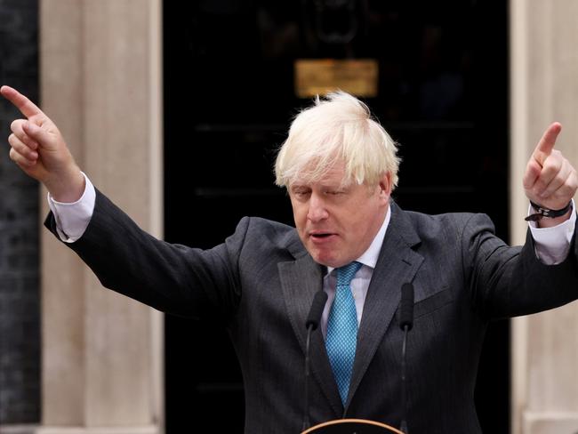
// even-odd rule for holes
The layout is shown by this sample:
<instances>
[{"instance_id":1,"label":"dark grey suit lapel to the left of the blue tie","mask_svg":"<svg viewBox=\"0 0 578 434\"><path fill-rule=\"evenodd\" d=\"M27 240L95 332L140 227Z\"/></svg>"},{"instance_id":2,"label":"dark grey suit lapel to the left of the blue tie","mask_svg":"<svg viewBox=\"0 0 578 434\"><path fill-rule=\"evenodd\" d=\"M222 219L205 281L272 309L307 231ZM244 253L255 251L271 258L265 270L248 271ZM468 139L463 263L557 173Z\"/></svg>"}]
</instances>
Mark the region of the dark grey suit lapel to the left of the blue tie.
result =
<instances>
[{"instance_id":1,"label":"dark grey suit lapel to the left of the blue tie","mask_svg":"<svg viewBox=\"0 0 578 434\"><path fill-rule=\"evenodd\" d=\"M301 254L301 257L295 261L279 263L278 269L285 306L293 326L293 332L297 336L303 354L305 354L307 340L305 321L309 315L313 296L323 287L322 267L313 261L309 254ZM311 334L309 351L311 372L331 404L335 416L341 417L343 406L325 352L321 327L317 327L317 330Z\"/></svg>"}]
</instances>

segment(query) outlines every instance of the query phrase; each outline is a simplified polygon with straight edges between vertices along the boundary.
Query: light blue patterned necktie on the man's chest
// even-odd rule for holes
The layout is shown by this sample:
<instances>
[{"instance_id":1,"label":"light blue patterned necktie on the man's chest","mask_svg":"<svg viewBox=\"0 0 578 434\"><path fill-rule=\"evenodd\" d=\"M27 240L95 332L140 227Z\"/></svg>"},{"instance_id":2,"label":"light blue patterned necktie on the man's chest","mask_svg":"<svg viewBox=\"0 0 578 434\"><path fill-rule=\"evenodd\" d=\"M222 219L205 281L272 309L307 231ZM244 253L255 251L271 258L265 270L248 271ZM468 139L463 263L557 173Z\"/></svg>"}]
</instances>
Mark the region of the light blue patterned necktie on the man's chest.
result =
<instances>
[{"instance_id":1,"label":"light blue patterned necktie on the man's chest","mask_svg":"<svg viewBox=\"0 0 578 434\"><path fill-rule=\"evenodd\" d=\"M357 310L353 293L351 293L351 280L361 268L359 262L351 262L337 271L337 288L335 300L329 318L327 319L327 337L325 348L329 363L333 369L333 375L337 382L337 388L341 396L341 402L345 405L349 392L349 381L353 370L353 360L357 347Z\"/></svg>"}]
</instances>

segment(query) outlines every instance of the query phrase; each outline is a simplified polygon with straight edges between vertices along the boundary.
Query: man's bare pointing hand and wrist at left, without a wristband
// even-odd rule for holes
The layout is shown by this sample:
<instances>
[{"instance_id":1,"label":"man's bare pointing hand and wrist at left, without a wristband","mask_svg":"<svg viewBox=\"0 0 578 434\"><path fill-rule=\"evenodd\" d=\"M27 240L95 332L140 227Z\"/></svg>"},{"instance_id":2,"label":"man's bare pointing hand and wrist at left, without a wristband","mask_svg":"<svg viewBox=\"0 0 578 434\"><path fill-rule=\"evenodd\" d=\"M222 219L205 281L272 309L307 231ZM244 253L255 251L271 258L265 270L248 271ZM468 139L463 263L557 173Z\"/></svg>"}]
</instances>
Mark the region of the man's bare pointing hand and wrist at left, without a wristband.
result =
<instances>
[{"instance_id":1,"label":"man's bare pointing hand and wrist at left, without a wristband","mask_svg":"<svg viewBox=\"0 0 578 434\"><path fill-rule=\"evenodd\" d=\"M31 100L9 86L0 93L25 117L12 122L10 157L28 176L46 186L54 200L75 202L83 195L84 176L57 126Z\"/></svg>"}]
</instances>

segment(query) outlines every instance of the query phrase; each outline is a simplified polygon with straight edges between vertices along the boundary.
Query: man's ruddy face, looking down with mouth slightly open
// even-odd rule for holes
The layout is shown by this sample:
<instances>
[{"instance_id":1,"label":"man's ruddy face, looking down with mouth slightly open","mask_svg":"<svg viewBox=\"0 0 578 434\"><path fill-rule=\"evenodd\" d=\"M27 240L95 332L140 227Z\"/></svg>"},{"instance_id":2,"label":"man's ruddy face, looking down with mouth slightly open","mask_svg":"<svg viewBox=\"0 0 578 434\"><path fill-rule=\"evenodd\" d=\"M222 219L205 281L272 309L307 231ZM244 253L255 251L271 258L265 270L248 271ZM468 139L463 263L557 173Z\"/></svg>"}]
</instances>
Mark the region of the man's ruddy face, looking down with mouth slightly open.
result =
<instances>
[{"instance_id":1,"label":"man's ruddy face, looking down with mouth slightly open","mask_svg":"<svg viewBox=\"0 0 578 434\"><path fill-rule=\"evenodd\" d=\"M313 259L329 267L355 261L371 245L385 218L391 192L389 174L373 187L342 188L342 162L318 182L289 187L295 226Z\"/></svg>"}]
</instances>

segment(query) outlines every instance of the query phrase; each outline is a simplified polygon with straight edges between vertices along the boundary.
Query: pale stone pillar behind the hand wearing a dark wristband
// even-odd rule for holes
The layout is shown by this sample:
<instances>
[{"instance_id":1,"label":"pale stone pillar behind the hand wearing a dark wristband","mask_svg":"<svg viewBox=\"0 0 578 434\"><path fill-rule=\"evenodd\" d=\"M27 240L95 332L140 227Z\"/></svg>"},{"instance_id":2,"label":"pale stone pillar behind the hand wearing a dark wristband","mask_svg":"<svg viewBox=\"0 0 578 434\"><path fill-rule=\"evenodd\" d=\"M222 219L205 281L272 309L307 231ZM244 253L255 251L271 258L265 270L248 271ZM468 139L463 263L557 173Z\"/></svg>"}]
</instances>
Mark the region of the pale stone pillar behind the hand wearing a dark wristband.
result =
<instances>
[{"instance_id":1,"label":"pale stone pillar behind the hand wearing a dark wristband","mask_svg":"<svg viewBox=\"0 0 578 434\"><path fill-rule=\"evenodd\" d=\"M558 120L557 148L578 167L578 2L510 1L511 242L524 242L526 162ZM548 291L548 288L544 288ZM578 432L578 303L512 326L512 433Z\"/></svg>"}]
</instances>

